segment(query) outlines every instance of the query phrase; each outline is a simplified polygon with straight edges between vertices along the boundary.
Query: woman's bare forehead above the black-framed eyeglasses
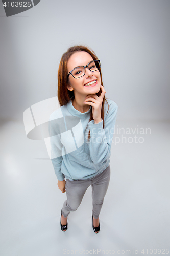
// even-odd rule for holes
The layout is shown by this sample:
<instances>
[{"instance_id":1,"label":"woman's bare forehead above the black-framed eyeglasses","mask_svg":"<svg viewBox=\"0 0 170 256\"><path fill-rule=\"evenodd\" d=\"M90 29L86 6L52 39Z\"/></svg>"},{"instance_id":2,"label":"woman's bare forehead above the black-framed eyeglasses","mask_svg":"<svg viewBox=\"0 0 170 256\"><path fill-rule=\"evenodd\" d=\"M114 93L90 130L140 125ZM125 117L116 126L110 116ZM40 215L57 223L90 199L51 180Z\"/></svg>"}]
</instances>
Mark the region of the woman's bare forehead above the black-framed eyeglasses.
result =
<instances>
[{"instance_id":1,"label":"woman's bare forehead above the black-framed eyeglasses","mask_svg":"<svg viewBox=\"0 0 170 256\"><path fill-rule=\"evenodd\" d=\"M86 66L93 58L87 52L75 52L71 55L67 62L68 70L74 69L77 66Z\"/></svg>"}]
</instances>

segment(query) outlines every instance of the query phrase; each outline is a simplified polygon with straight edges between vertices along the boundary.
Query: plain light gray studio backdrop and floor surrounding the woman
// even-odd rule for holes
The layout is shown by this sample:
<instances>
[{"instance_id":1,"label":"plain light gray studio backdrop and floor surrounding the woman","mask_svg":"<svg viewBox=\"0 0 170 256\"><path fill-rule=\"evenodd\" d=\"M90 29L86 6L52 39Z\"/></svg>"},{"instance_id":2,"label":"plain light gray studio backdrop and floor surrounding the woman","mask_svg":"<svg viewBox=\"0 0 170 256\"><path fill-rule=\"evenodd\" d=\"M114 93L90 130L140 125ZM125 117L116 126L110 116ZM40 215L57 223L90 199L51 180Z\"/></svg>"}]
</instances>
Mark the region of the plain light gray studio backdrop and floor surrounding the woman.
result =
<instances>
[{"instance_id":1,"label":"plain light gray studio backdrop and floor surrounding the woman","mask_svg":"<svg viewBox=\"0 0 170 256\"><path fill-rule=\"evenodd\" d=\"M169 248L169 11L168 0L41 0L7 18L0 2L1 255L56 256L63 249L150 255ZM75 44L101 60L106 97L119 107L116 128L151 129L115 133L144 141L113 141L97 235L90 187L61 231L66 195L44 142L29 140L22 120L31 105L56 96L60 58Z\"/></svg>"}]
</instances>

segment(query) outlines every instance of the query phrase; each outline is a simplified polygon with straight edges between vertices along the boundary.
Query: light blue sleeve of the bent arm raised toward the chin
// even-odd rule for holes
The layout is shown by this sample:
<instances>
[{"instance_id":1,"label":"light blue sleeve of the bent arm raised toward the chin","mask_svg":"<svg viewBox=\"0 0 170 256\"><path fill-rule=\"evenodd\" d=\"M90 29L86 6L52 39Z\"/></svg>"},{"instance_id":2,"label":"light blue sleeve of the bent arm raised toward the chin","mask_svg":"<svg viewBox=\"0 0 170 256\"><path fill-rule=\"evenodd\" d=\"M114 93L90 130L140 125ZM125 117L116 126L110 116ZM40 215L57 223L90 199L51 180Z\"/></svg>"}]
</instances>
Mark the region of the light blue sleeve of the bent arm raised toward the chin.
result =
<instances>
[{"instance_id":1,"label":"light blue sleeve of the bent arm raised toward the chin","mask_svg":"<svg viewBox=\"0 0 170 256\"><path fill-rule=\"evenodd\" d=\"M109 110L105 116L105 128L103 120L97 124L94 120L88 123L90 129L89 151L94 164L103 163L110 157L110 149L114 134L118 106L114 101L109 104Z\"/></svg>"}]
</instances>

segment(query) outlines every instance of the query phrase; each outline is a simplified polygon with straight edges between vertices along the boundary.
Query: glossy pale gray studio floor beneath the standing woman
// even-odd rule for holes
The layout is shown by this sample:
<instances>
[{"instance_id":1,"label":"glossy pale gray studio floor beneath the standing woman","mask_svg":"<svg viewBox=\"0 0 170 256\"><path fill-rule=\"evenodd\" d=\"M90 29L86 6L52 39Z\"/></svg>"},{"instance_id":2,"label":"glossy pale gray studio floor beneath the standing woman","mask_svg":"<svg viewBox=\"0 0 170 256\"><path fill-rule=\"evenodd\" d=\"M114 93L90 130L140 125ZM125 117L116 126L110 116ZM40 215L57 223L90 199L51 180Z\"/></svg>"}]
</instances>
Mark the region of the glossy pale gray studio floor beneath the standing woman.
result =
<instances>
[{"instance_id":1,"label":"glossy pale gray studio floor beneath the standing woman","mask_svg":"<svg viewBox=\"0 0 170 256\"><path fill-rule=\"evenodd\" d=\"M62 232L66 194L57 187L44 142L28 139L22 122L1 122L0 254L168 254L169 128L168 121L117 120L111 180L95 234L91 187Z\"/></svg>"}]
</instances>

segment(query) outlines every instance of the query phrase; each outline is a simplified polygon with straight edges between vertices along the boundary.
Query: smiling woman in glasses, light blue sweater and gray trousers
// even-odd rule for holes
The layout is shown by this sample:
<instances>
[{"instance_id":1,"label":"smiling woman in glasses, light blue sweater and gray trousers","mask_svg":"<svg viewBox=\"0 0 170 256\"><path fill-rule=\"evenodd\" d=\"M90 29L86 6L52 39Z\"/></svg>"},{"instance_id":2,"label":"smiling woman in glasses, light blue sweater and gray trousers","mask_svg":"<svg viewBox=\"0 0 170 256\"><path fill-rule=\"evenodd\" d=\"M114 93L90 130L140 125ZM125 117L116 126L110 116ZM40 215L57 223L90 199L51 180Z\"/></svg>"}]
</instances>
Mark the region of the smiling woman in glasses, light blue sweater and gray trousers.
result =
<instances>
[{"instance_id":1,"label":"smiling woman in glasses, light blue sweater and gray trousers","mask_svg":"<svg viewBox=\"0 0 170 256\"><path fill-rule=\"evenodd\" d=\"M66 192L61 210L61 230L92 186L92 227L100 231L99 214L110 180L110 148L117 105L105 99L100 60L86 46L70 47L58 70L58 100L51 115L52 163L58 188ZM66 178L66 180L65 180Z\"/></svg>"}]
</instances>

